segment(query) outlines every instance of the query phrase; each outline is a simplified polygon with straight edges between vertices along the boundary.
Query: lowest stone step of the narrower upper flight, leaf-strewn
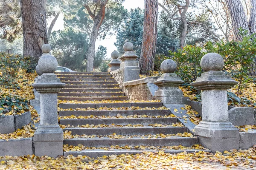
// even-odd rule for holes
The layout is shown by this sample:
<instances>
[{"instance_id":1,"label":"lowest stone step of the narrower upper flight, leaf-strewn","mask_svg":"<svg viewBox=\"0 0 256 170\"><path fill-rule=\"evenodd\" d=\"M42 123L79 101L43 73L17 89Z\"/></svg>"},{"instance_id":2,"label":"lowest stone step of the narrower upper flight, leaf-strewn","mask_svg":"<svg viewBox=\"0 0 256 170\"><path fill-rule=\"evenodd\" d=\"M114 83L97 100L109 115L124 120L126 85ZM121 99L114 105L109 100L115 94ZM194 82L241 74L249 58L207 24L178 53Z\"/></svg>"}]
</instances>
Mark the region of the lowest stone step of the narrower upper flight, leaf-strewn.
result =
<instances>
[{"instance_id":1,"label":"lowest stone step of the narrower upper flight, leaf-strewn","mask_svg":"<svg viewBox=\"0 0 256 170\"><path fill-rule=\"evenodd\" d=\"M101 100L127 100L127 97L70 97L58 96L59 100L77 100L77 101L101 101Z\"/></svg>"}]
</instances>

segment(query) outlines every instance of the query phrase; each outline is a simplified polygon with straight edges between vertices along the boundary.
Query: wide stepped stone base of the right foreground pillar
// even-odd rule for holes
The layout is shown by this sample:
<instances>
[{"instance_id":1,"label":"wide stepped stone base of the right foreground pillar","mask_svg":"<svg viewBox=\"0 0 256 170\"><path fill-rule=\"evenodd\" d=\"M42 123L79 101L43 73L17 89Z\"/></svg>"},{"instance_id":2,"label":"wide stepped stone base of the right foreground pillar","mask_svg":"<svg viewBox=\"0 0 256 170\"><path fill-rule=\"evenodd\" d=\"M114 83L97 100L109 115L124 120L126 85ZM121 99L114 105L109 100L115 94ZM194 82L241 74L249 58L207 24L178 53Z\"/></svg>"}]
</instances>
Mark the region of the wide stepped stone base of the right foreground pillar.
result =
<instances>
[{"instance_id":1,"label":"wide stepped stone base of the right foreground pillar","mask_svg":"<svg viewBox=\"0 0 256 170\"><path fill-rule=\"evenodd\" d=\"M230 122L201 121L195 127L195 135L200 144L213 152L239 149L239 130Z\"/></svg>"}]
</instances>

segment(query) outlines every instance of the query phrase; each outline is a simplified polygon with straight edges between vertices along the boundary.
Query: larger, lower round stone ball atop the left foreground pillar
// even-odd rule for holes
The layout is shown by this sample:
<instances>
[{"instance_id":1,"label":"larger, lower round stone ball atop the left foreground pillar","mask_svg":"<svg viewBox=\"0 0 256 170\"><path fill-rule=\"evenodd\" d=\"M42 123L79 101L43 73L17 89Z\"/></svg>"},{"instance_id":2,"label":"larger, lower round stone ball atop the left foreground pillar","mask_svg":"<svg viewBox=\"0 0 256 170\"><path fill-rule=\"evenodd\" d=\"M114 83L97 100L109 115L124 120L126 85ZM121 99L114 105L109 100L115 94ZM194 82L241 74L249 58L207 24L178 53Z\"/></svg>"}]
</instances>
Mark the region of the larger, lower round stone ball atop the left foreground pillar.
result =
<instances>
[{"instance_id":1,"label":"larger, lower round stone ball atop the left foreground pillar","mask_svg":"<svg viewBox=\"0 0 256 170\"><path fill-rule=\"evenodd\" d=\"M52 55L43 55L38 61L38 69L41 73L54 73L58 67L58 61Z\"/></svg>"}]
</instances>

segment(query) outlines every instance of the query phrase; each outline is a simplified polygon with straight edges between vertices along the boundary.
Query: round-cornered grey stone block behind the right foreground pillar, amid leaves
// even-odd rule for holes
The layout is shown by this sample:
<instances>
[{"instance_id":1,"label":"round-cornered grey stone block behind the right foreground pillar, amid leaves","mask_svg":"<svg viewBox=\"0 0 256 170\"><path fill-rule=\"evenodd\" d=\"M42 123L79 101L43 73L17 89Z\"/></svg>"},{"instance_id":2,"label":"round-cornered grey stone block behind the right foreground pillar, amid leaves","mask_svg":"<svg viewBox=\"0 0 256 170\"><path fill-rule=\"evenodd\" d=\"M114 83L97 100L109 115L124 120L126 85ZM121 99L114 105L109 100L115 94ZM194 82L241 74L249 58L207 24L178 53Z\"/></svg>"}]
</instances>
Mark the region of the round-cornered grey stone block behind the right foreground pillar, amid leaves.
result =
<instances>
[{"instance_id":1,"label":"round-cornered grey stone block behind the right foreground pillar, amid leaves","mask_svg":"<svg viewBox=\"0 0 256 170\"><path fill-rule=\"evenodd\" d=\"M229 122L234 126L254 125L253 107L232 108L228 114Z\"/></svg>"}]
</instances>

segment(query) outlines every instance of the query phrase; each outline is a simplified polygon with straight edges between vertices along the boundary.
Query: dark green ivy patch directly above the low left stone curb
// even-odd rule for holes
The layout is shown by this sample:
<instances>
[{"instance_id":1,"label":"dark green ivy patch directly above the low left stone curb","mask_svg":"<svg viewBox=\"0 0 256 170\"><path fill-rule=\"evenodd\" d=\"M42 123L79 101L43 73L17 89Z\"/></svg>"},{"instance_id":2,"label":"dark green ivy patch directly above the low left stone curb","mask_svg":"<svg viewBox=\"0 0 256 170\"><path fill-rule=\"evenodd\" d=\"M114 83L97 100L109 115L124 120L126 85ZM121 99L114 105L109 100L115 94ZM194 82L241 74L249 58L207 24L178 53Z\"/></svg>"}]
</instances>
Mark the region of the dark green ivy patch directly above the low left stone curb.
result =
<instances>
[{"instance_id":1,"label":"dark green ivy patch directly above the low left stone curb","mask_svg":"<svg viewBox=\"0 0 256 170\"><path fill-rule=\"evenodd\" d=\"M0 96L0 116L5 116L9 112L12 112L13 115L21 111L29 111L28 100L10 94Z\"/></svg>"}]
</instances>

